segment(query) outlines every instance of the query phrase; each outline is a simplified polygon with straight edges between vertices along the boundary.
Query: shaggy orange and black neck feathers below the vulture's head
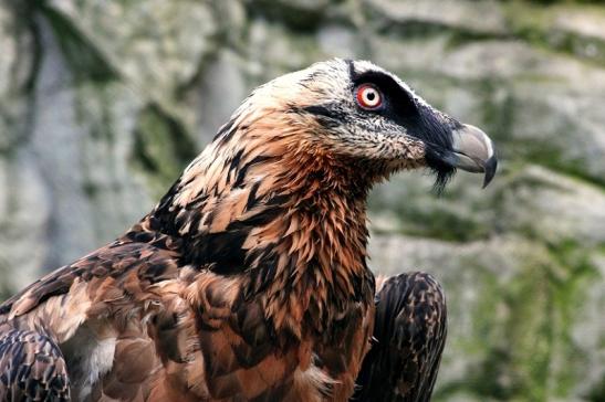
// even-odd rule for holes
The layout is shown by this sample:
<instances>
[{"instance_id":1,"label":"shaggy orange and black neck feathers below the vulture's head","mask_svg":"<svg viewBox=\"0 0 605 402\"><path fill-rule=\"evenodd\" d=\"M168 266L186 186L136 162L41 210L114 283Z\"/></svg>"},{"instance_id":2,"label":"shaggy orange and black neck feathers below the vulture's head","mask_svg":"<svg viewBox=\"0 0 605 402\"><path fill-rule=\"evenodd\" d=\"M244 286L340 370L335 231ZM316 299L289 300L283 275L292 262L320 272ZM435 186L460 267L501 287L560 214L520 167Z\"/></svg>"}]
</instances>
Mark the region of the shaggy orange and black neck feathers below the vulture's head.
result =
<instances>
[{"instance_id":1,"label":"shaggy orange and black neck feathers below the vulture's head","mask_svg":"<svg viewBox=\"0 0 605 402\"><path fill-rule=\"evenodd\" d=\"M243 297L260 297L277 328L312 319L321 329L373 297L371 180L319 147L312 125L284 116L226 125L150 219L181 240L182 264L243 274Z\"/></svg>"}]
</instances>

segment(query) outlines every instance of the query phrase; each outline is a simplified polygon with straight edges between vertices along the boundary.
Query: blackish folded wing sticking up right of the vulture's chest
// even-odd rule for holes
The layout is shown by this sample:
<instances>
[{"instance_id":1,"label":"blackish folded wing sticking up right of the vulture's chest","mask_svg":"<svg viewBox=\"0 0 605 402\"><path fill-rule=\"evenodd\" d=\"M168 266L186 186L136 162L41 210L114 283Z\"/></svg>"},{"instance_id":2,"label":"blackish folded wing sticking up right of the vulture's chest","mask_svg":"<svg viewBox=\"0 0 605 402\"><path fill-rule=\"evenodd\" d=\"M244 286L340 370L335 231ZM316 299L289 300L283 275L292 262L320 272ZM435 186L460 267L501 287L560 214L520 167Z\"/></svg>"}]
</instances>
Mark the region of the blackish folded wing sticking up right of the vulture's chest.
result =
<instances>
[{"instance_id":1,"label":"blackish folded wing sticking up right of the vulture's chest","mask_svg":"<svg viewBox=\"0 0 605 402\"><path fill-rule=\"evenodd\" d=\"M375 343L354 401L430 401L446 341L444 290L425 273L378 279Z\"/></svg>"}]
</instances>

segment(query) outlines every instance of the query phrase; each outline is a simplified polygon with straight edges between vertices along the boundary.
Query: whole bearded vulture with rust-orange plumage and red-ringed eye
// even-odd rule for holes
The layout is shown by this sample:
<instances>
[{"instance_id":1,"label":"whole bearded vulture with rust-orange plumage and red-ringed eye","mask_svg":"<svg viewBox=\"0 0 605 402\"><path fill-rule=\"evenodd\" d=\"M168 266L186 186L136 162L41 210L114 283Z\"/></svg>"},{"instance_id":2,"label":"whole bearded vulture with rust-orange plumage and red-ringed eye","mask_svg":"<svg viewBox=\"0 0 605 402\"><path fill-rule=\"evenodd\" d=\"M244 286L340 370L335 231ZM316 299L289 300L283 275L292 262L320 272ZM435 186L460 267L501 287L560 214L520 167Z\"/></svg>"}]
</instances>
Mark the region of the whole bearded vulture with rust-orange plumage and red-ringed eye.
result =
<instances>
[{"instance_id":1,"label":"whole bearded vulture with rust-orange plumage and red-ringed eye","mask_svg":"<svg viewBox=\"0 0 605 402\"><path fill-rule=\"evenodd\" d=\"M366 199L399 170L442 188L496 165L369 62L280 76L138 223L0 305L0 400L428 401L444 294L375 281Z\"/></svg>"}]
</instances>

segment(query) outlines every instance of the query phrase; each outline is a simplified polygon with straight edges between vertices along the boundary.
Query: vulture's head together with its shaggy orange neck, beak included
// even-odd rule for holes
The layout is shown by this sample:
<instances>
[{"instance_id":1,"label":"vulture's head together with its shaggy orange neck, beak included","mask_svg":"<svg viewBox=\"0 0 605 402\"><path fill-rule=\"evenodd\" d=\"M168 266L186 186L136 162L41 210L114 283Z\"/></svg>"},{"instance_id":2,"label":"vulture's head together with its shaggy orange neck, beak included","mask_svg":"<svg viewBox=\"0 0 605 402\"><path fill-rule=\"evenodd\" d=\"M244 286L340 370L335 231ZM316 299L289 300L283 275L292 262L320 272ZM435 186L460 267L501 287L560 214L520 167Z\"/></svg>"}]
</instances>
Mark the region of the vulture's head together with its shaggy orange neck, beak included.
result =
<instances>
[{"instance_id":1,"label":"vulture's head together with its shaggy orange neck, beak included","mask_svg":"<svg viewBox=\"0 0 605 402\"><path fill-rule=\"evenodd\" d=\"M246 266L248 296L273 286L289 297L291 283L321 283L317 298L327 306L327 288L342 300L373 294L359 289L372 282L366 200L374 183L428 168L439 191L459 168L483 172L487 184L496 166L480 129L369 62L332 60L254 89L149 224L179 237L188 263L228 274Z\"/></svg>"}]
</instances>

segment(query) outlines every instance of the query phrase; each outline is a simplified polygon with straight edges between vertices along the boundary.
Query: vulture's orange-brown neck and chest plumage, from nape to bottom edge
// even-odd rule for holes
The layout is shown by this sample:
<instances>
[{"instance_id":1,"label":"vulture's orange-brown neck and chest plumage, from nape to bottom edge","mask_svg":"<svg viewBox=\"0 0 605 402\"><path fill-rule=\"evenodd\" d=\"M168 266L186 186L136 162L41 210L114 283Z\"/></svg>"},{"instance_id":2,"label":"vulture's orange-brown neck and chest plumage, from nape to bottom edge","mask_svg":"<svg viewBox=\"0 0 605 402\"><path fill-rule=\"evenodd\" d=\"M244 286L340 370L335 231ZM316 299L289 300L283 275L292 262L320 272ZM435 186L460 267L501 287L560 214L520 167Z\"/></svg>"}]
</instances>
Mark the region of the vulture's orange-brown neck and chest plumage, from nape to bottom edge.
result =
<instances>
[{"instance_id":1,"label":"vulture's orange-brown neck and chest plumage, from nape to bottom edge","mask_svg":"<svg viewBox=\"0 0 605 402\"><path fill-rule=\"evenodd\" d=\"M226 381L211 393L241 364L346 400L373 326L372 178L282 118L227 125L147 224L179 237L200 348L220 346L202 353L208 382Z\"/></svg>"}]
</instances>

